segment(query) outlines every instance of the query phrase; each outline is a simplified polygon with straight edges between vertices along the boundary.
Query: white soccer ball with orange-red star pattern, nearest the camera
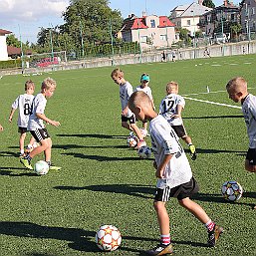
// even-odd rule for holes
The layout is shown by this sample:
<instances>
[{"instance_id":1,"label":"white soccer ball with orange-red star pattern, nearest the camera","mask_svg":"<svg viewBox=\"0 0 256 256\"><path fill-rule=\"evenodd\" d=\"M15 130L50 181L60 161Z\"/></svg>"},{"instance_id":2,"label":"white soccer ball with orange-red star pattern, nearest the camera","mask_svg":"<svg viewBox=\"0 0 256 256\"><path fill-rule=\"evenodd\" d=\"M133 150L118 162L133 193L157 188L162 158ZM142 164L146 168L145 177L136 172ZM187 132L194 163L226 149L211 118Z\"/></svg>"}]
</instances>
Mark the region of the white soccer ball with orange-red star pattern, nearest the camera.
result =
<instances>
[{"instance_id":1,"label":"white soccer ball with orange-red star pattern, nearest the camera","mask_svg":"<svg viewBox=\"0 0 256 256\"><path fill-rule=\"evenodd\" d=\"M103 251L115 251L122 241L120 230L113 225L101 226L96 233L96 244Z\"/></svg>"}]
</instances>

